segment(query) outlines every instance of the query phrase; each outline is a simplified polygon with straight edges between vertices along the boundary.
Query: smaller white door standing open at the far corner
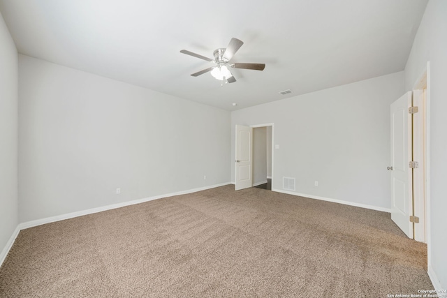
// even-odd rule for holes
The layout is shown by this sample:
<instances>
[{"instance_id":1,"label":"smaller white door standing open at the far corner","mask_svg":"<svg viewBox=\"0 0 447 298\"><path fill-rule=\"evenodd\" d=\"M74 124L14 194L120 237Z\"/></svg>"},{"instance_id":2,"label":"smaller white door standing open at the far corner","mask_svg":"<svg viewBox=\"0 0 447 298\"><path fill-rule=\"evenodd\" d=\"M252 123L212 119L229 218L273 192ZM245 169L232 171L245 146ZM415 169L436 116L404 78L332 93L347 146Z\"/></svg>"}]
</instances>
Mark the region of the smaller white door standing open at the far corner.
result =
<instances>
[{"instance_id":1,"label":"smaller white door standing open at the far corner","mask_svg":"<svg viewBox=\"0 0 447 298\"><path fill-rule=\"evenodd\" d=\"M249 188L253 184L253 128L236 126L236 191Z\"/></svg>"}]
</instances>

